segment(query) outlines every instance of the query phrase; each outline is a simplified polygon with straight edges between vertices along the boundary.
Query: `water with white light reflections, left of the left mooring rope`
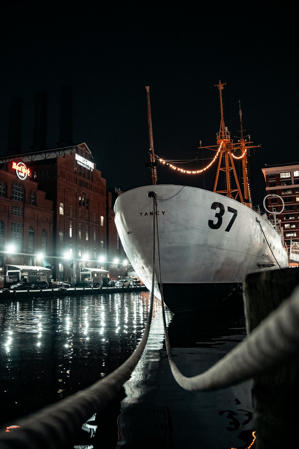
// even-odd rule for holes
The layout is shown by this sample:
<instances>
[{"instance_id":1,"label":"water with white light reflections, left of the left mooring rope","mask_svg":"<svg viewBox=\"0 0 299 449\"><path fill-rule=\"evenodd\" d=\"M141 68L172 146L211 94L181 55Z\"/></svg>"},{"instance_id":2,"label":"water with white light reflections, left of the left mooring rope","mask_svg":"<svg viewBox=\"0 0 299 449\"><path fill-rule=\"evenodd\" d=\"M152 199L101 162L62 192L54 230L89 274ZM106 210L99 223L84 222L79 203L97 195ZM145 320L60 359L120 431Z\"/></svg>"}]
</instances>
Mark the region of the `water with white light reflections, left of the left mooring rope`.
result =
<instances>
[{"instance_id":1,"label":"water with white light reflections, left of the left mooring rope","mask_svg":"<svg viewBox=\"0 0 299 449\"><path fill-rule=\"evenodd\" d=\"M82 390L138 345L148 292L0 303L1 423Z\"/></svg>"}]
</instances>

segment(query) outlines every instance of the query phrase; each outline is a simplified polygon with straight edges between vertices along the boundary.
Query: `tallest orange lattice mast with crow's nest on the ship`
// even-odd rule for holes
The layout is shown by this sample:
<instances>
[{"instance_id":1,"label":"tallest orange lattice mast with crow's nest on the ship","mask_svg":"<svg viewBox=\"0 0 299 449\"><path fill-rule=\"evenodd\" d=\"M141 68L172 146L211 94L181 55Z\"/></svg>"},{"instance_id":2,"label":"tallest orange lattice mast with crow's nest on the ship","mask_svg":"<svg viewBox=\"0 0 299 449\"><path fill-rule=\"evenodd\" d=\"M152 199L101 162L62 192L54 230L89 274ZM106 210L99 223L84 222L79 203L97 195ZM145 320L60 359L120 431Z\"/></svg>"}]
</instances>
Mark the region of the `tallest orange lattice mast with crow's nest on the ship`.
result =
<instances>
[{"instance_id":1,"label":"tallest orange lattice mast with crow's nest on the ship","mask_svg":"<svg viewBox=\"0 0 299 449\"><path fill-rule=\"evenodd\" d=\"M227 127L224 124L224 118L223 118L223 105L222 105L222 92L223 86L225 86L226 83L222 84L221 81L219 81L219 84L215 84L215 87L219 89L220 93L220 110L221 110L221 121L220 121L220 130L217 133L217 145L220 147L220 154L219 154L219 163L217 167L217 174L214 184L213 192L225 194L228 198L236 199L239 195L240 201L243 202L243 196L240 189L236 169L234 167L234 161L231 154L231 150L234 147L233 141L230 139L230 132L227 130ZM222 163L222 156L224 155L225 163L224 166L221 167ZM233 170L234 172L234 179L237 185L236 189L232 189L231 182L230 182L230 171ZM226 189L224 190L217 190L217 184L218 184L218 178L219 178L219 172L223 171L225 172L226 177Z\"/></svg>"}]
</instances>

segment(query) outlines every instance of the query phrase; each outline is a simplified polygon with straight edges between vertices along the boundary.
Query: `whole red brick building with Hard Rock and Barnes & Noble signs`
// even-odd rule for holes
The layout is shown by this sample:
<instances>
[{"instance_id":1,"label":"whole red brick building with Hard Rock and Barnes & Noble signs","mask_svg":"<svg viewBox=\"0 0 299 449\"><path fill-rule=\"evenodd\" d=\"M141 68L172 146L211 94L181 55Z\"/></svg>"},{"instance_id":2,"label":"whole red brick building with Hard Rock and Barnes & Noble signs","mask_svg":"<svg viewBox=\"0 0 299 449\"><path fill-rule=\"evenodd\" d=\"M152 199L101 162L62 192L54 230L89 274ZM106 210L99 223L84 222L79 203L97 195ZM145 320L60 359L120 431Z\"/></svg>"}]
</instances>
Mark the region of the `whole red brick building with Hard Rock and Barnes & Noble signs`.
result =
<instances>
[{"instance_id":1,"label":"whole red brick building with Hard Rock and Barnes & Noble signs","mask_svg":"<svg viewBox=\"0 0 299 449\"><path fill-rule=\"evenodd\" d=\"M1 157L0 188L3 272L7 264L40 264L51 267L52 280L72 285L126 277L114 224L118 193L107 191L85 143Z\"/></svg>"}]
</instances>

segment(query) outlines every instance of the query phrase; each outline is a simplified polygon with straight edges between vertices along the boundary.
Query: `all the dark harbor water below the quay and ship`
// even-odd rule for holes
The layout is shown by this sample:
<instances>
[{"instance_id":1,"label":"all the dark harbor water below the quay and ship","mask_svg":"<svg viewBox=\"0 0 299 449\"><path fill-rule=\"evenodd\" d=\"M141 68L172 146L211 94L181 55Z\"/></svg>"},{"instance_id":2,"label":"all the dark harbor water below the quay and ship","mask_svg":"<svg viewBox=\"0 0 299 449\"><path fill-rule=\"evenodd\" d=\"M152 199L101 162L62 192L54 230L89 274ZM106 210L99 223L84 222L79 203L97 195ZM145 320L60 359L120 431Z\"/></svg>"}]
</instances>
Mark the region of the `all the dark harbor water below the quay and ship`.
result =
<instances>
[{"instance_id":1,"label":"all the dark harbor water below the quay and ship","mask_svg":"<svg viewBox=\"0 0 299 449\"><path fill-rule=\"evenodd\" d=\"M143 335L149 303L148 292L0 302L1 428L17 426L21 417L120 366ZM196 314L167 309L166 321L173 359L187 377L206 371L246 336L242 298ZM63 447L245 449L252 431L250 381L213 392L178 386L166 354L161 304L154 299L147 345L130 379Z\"/></svg>"}]
</instances>

